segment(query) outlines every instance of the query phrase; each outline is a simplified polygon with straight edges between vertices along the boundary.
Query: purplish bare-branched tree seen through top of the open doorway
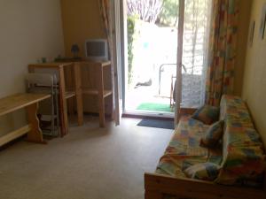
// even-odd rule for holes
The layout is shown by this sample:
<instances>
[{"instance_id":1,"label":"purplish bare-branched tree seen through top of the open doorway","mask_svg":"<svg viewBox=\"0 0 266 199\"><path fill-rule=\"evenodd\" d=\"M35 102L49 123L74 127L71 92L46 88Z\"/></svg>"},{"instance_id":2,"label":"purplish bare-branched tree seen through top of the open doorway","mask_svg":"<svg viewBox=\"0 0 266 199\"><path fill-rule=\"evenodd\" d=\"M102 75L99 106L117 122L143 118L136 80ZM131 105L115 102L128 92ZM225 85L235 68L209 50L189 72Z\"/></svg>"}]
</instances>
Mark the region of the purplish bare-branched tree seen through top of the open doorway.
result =
<instances>
[{"instance_id":1,"label":"purplish bare-branched tree seen through top of the open doorway","mask_svg":"<svg viewBox=\"0 0 266 199\"><path fill-rule=\"evenodd\" d=\"M138 16L141 20L155 23L162 4L163 0L127 0L128 15Z\"/></svg>"}]
</instances>

